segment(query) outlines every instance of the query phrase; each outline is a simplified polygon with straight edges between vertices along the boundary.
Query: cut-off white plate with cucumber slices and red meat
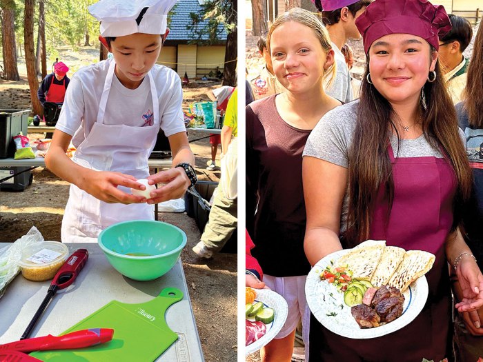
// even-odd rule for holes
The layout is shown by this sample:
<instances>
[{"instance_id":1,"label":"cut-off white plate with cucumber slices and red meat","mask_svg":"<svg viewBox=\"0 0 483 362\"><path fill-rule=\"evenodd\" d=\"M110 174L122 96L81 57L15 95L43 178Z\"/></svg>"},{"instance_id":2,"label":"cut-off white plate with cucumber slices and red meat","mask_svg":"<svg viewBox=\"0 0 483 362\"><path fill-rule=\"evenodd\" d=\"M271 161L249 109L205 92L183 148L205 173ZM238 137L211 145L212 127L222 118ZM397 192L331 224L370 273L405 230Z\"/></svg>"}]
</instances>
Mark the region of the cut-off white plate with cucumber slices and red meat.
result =
<instances>
[{"instance_id":1,"label":"cut-off white plate with cucumber slices and red meat","mask_svg":"<svg viewBox=\"0 0 483 362\"><path fill-rule=\"evenodd\" d=\"M255 292L257 292L255 302L261 301L266 307L272 308L275 311L275 319L273 319L272 323L266 324L266 332L262 338L245 347L246 356L257 352L257 350L270 342L284 326L288 314L287 302L283 296L268 289L255 289ZM247 319L255 321L255 318Z\"/></svg>"}]
</instances>

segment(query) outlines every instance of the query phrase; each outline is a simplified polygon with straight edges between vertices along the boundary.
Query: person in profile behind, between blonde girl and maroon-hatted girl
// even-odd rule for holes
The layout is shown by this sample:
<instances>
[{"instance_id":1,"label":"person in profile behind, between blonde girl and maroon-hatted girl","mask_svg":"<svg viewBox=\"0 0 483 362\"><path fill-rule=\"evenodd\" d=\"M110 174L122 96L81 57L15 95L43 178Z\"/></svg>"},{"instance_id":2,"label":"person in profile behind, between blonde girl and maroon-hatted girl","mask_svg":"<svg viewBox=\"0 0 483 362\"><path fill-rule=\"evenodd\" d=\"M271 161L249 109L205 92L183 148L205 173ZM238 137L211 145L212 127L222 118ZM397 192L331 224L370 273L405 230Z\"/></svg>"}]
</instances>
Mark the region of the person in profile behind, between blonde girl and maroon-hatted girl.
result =
<instances>
[{"instance_id":1,"label":"person in profile behind, between blonde girl and maroon-hatted girl","mask_svg":"<svg viewBox=\"0 0 483 362\"><path fill-rule=\"evenodd\" d=\"M335 52L337 73L334 79L326 81L326 93L343 103L348 103L353 100L351 74L341 50L348 39L360 39L361 34L355 26L355 19L366 10L371 0L313 1L317 10L322 12L322 21L331 37Z\"/></svg>"}]
</instances>

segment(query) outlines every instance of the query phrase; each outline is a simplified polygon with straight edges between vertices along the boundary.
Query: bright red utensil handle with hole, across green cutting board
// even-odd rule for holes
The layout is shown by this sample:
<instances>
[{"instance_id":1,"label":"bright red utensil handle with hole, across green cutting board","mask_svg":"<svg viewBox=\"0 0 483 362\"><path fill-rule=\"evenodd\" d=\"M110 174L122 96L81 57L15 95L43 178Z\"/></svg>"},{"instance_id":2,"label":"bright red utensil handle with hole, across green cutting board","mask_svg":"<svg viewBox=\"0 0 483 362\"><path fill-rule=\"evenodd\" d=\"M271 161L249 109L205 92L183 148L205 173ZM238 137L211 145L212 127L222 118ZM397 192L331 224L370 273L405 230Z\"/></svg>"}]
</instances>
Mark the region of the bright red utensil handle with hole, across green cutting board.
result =
<instances>
[{"instance_id":1,"label":"bright red utensil handle with hole, across green cutting board","mask_svg":"<svg viewBox=\"0 0 483 362\"><path fill-rule=\"evenodd\" d=\"M86 348L99 343L106 343L112 339L114 330L110 328L91 328L64 334L63 336L41 336L23 339L0 345L0 351L16 350L18 352L34 352L45 350L72 350Z\"/></svg>"}]
</instances>

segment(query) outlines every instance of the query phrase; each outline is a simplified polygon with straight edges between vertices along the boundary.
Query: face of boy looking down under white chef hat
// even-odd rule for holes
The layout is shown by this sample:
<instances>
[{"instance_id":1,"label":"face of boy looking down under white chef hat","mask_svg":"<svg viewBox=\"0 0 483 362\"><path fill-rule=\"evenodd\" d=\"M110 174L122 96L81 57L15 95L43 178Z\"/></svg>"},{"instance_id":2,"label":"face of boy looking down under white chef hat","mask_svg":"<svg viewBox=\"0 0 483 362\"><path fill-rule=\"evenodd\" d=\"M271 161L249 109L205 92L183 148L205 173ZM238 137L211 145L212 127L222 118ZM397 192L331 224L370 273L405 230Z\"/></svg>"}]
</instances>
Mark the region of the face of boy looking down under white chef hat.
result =
<instances>
[{"instance_id":1,"label":"face of boy looking down under white chef hat","mask_svg":"<svg viewBox=\"0 0 483 362\"><path fill-rule=\"evenodd\" d=\"M157 61L162 41L157 34L138 32L110 42L109 51L116 61L116 76L126 88L135 89L141 84Z\"/></svg>"}]
</instances>

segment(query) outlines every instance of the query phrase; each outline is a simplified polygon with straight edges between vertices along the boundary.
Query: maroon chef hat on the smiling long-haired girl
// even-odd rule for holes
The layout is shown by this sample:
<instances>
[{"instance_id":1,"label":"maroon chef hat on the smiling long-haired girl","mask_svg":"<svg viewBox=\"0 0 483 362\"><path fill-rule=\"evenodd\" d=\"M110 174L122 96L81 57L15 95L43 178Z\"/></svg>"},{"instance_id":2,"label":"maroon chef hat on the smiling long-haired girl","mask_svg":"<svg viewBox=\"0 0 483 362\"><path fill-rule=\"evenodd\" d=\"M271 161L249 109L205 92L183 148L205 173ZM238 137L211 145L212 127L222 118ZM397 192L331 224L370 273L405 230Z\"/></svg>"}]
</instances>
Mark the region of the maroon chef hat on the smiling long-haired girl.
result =
<instances>
[{"instance_id":1,"label":"maroon chef hat on the smiling long-haired girl","mask_svg":"<svg viewBox=\"0 0 483 362\"><path fill-rule=\"evenodd\" d=\"M375 0L355 19L355 25L362 34L366 54L375 40L395 33L417 35L438 50L438 34L451 30L444 7L427 0Z\"/></svg>"}]
</instances>

